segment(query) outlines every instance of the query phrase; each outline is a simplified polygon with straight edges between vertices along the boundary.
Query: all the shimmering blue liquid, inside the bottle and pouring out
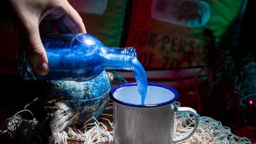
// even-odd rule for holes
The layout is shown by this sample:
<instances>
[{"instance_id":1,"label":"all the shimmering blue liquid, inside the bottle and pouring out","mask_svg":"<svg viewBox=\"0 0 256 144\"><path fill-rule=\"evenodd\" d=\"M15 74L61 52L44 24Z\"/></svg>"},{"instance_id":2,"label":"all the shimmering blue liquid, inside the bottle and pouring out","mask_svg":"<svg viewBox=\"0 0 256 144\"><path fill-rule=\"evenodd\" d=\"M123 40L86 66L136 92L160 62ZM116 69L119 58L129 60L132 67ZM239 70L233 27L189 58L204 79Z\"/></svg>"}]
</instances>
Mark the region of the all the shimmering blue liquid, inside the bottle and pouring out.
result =
<instances>
[{"instance_id":1,"label":"all the shimmering blue liquid, inside the bottle and pouring out","mask_svg":"<svg viewBox=\"0 0 256 144\"><path fill-rule=\"evenodd\" d=\"M121 57L121 55L116 56ZM47 79L53 79L57 75L62 79L94 77L102 71L102 69L98 71L95 67L99 67L101 63L107 63L105 59L100 59L97 53L87 53L80 46L75 46L73 51L70 51L68 48L62 49L61 51L49 49L47 50L47 57L51 68L49 74L46 75ZM115 59L114 55L108 59L110 59L111 65L119 63L119 59ZM147 74L137 58L132 59L132 70L141 96L141 105L145 105ZM79 79L76 80L79 81Z\"/></svg>"}]
</instances>

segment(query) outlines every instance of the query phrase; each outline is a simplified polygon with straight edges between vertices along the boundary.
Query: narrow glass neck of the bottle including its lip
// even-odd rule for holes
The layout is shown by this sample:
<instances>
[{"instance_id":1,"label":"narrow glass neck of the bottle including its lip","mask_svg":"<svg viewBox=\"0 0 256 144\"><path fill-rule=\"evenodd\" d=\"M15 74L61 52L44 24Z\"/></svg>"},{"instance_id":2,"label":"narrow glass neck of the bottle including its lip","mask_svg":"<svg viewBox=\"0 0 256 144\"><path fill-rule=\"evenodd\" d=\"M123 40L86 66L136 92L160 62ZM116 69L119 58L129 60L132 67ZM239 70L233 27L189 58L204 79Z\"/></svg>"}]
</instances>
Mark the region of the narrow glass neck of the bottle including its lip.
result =
<instances>
[{"instance_id":1,"label":"narrow glass neck of the bottle including its lip","mask_svg":"<svg viewBox=\"0 0 256 144\"><path fill-rule=\"evenodd\" d=\"M103 69L132 70L132 59L137 58L133 47L106 47L103 52Z\"/></svg>"}]
</instances>

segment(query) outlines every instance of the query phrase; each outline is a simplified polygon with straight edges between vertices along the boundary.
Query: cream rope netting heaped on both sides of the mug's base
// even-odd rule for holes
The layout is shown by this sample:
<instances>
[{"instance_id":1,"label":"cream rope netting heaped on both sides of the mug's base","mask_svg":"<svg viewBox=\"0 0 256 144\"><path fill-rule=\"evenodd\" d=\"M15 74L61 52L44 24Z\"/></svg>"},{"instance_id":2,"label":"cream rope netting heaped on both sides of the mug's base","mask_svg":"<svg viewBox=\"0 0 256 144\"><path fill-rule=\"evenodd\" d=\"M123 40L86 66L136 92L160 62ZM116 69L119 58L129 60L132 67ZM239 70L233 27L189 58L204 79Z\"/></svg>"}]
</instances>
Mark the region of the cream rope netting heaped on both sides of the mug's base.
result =
<instances>
[{"instance_id":1,"label":"cream rope netting heaped on both sides of the mug's base","mask_svg":"<svg viewBox=\"0 0 256 144\"><path fill-rule=\"evenodd\" d=\"M174 102L174 106L179 107L179 102ZM113 109L113 103L109 103L106 109ZM104 117L102 117L104 116ZM90 118L85 122L82 129L76 129L76 127L69 127L67 131L61 133L54 133L49 139L50 144L67 144L67 140L83 141L85 144L91 143L105 143L111 142L113 138L113 122L109 118L113 118L110 114L101 114L96 119ZM91 120L94 122L91 122ZM108 131L107 126L101 123L101 121L107 121L108 125L112 128ZM174 138L181 137L189 133L195 125L195 117L189 113L176 113L174 124ZM211 117L202 116L199 119L198 129L195 134L186 141L177 142L177 144L188 143L205 143L205 144L220 144L220 143L238 143L249 144L250 140L246 138L240 138L237 135L231 133L229 127L222 126L221 122L214 120Z\"/></svg>"}]
</instances>

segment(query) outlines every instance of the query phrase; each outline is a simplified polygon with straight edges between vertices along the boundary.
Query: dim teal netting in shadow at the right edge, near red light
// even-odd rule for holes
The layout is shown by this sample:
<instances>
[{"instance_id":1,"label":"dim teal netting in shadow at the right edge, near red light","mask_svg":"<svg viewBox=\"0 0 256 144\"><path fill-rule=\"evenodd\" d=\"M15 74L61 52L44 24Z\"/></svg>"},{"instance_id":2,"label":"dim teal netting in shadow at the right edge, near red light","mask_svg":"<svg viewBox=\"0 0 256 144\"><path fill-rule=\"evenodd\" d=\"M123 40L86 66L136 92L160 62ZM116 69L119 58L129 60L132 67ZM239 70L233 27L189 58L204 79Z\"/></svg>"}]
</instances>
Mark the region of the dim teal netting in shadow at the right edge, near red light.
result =
<instances>
[{"instance_id":1,"label":"dim teal netting in shadow at the right edge, near red light","mask_svg":"<svg viewBox=\"0 0 256 144\"><path fill-rule=\"evenodd\" d=\"M208 71L211 88L209 99L218 101L216 91L223 93L225 109L231 110L235 121L243 125L256 124L256 59L255 52L236 54L221 50ZM215 89L214 89L215 87ZM215 90L215 91L214 91Z\"/></svg>"}]
</instances>

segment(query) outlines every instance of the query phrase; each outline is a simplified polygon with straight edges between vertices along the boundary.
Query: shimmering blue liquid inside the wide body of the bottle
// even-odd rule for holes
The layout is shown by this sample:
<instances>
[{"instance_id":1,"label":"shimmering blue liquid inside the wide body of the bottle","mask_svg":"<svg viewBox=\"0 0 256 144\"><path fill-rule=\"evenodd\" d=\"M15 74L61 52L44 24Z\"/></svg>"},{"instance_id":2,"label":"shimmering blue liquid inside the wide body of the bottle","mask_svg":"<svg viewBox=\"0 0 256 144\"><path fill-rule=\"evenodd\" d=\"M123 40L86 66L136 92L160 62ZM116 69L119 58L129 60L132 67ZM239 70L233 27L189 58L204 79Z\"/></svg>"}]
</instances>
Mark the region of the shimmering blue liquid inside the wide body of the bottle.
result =
<instances>
[{"instance_id":1,"label":"shimmering blue liquid inside the wide body of the bottle","mask_svg":"<svg viewBox=\"0 0 256 144\"><path fill-rule=\"evenodd\" d=\"M35 74L37 79L88 81L103 71L97 68L103 61L97 57L98 52L87 53L81 46L74 46L72 51L68 47L62 47L61 50L48 47L46 55L49 73L45 76Z\"/></svg>"}]
</instances>

